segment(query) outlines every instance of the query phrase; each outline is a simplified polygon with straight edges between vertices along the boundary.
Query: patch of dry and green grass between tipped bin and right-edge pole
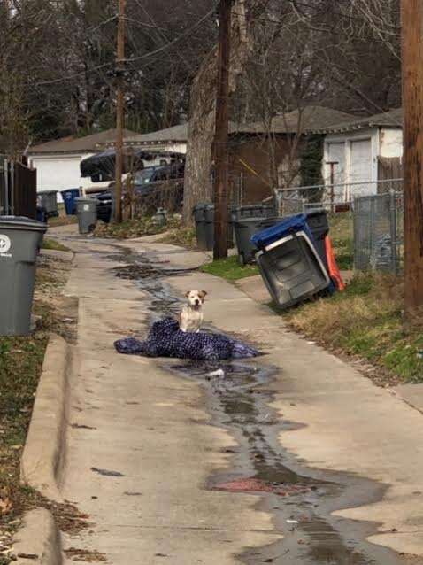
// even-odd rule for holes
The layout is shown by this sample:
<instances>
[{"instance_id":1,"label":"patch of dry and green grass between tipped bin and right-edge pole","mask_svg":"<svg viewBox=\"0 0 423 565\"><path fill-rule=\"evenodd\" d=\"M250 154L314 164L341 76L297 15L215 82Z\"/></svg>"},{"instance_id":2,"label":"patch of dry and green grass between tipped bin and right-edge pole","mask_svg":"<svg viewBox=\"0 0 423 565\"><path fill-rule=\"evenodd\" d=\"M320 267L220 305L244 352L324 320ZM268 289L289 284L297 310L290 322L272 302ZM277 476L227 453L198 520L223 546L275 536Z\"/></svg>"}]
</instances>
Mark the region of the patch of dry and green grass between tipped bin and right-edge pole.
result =
<instances>
[{"instance_id":1,"label":"patch of dry and green grass between tipped bin and right-edge pole","mask_svg":"<svg viewBox=\"0 0 423 565\"><path fill-rule=\"evenodd\" d=\"M358 274L343 292L282 313L288 326L338 357L353 360L379 386L421 382L421 316L404 326L403 281Z\"/></svg>"}]
</instances>

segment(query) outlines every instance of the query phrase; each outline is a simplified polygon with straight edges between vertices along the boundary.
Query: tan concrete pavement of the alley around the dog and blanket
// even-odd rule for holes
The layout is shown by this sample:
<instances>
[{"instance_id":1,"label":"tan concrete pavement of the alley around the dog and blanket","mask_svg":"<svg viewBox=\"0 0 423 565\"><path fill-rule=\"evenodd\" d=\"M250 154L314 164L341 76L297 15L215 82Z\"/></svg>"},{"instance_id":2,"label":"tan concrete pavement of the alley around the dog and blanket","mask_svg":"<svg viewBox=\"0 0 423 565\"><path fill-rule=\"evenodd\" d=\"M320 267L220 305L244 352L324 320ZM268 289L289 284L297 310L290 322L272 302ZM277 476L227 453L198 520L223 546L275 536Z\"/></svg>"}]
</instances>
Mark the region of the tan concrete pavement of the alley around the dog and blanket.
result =
<instances>
[{"instance_id":1,"label":"tan concrete pavement of the alley around the dog and blanket","mask_svg":"<svg viewBox=\"0 0 423 565\"><path fill-rule=\"evenodd\" d=\"M173 272L202 253L149 238L65 243L77 252L65 292L79 298L79 323L62 493L91 524L65 548L112 565L423 562L409 555L423 555L422 414L235 286ZM142 277L146 261L158 275ZM229 390L230 402L220 384L204 389L206 368L186 378L174 361L114 351L191 289L209 293L214 329L265 352L242 370L271 376ZM244 429L247 407L232 405L247 393ZM251 477L283 496L231 483Z\"/></svg>"}]
</instances>

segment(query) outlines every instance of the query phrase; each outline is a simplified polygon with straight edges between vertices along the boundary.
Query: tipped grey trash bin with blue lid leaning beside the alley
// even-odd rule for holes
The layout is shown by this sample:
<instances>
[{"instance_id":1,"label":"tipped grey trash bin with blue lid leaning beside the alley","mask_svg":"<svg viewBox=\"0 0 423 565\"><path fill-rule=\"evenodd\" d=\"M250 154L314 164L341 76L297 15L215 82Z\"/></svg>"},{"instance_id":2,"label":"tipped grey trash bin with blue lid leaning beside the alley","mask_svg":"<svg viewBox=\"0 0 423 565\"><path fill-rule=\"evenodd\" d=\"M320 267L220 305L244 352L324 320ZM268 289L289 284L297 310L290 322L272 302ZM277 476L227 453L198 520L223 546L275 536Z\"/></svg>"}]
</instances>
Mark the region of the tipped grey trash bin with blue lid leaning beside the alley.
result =
<instances>
[{"instance_id":1,"label":"tipped grey trash bin with blue lid leaning beside the alley","mask_svg":"<svg viewBox=\"0 0 423 565\"><path fill-rule=\"evenodd\" d=\"M258 268L274 302L283 308L319 294L330 285L306 215L298 214L252 238Z\"/></svg>"}]
</instances>

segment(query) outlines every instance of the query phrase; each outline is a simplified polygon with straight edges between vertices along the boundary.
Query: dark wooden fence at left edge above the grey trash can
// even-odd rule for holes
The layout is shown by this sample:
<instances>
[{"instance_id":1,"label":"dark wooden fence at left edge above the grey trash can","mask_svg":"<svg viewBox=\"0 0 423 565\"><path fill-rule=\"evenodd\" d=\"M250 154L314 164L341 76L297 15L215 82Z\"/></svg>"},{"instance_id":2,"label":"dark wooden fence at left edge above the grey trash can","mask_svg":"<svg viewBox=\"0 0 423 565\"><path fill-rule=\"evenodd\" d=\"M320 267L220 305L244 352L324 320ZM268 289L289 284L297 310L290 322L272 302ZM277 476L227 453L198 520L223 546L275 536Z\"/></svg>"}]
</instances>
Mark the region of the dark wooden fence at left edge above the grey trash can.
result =
<instances>
[{"instance_id":1,"label":"dark wooden fence at left edge above the grey trash can","mask_svg":"<svg viewBox=\"0 0 423 565\"><path fill-rule=\"evenodd\" d=\"M36 170L0 160L0 215L36 219Z\"/></svg>"}]
</instances>

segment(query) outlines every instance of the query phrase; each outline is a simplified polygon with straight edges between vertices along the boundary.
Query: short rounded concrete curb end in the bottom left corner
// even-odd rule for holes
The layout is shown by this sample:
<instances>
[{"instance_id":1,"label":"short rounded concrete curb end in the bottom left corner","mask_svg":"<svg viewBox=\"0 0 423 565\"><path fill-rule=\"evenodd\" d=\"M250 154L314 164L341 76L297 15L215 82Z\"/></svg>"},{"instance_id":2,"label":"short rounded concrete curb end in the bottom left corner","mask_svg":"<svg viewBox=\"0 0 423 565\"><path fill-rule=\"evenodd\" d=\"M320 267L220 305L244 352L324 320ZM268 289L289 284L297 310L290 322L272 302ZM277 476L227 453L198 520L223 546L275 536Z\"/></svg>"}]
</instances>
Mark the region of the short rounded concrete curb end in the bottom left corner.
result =
<instances>
[{"instance_id":1,"label":"short rounded concrete curb end in the bottom left corner","mask_svg":"<svg viewBox=\"0 0 423 565\"><path fill-rule=\"evenodd\" d=\"M31 510L15 536L13 553L17 565L62 565L62 539L58 526L48 510Z\"/></svg>"}]
</instances>

